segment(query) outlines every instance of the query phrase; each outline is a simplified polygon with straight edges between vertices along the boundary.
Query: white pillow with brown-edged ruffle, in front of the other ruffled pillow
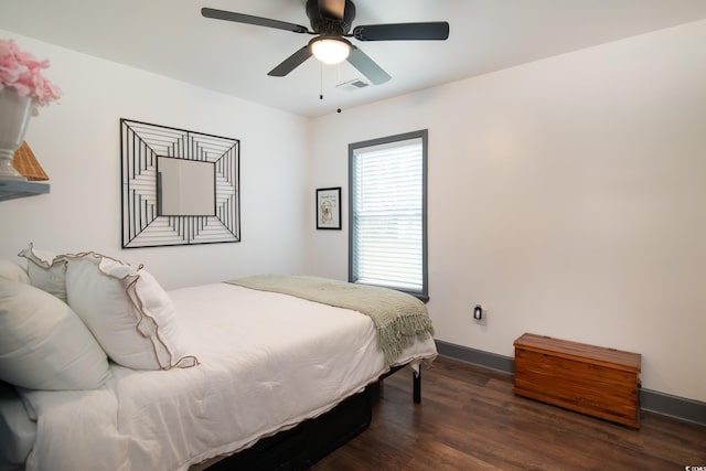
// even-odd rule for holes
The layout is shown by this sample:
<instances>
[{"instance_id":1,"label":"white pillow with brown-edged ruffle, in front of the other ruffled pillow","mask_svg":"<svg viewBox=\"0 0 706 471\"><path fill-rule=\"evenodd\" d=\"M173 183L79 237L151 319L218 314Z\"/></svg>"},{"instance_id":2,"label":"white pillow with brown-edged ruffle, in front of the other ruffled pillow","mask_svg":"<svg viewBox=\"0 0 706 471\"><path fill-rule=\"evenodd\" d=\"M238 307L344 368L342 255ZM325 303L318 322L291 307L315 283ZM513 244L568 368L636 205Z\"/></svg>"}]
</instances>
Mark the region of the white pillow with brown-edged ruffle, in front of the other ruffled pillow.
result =
<instances>
[{"instance_id":1,"label":"white pillow with brown-edged ruffle, in front of the other ruffled pillow","mask_svg":"<svg viewBox=\"0 0 706 471\"><path fill-rule=\"evenodd\" d=\"M147 270L96 253L65 257L68 304L110 360L132 370L199 364L171 299Z\"/></svg>"}]
</instances>

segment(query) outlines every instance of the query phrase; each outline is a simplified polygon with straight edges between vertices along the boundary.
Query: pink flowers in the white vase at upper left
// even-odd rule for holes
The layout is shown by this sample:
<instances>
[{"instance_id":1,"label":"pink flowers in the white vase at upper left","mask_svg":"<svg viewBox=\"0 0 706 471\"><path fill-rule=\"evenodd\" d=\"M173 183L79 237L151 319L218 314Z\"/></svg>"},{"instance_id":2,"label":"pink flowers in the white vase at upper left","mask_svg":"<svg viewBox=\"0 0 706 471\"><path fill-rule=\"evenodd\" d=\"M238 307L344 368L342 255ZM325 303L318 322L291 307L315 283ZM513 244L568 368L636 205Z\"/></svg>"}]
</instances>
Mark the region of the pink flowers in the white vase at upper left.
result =
<instances>
[{"instance_id":1,"label":"pink flowers in the white vase at upper left","mask_svg":"<svg viewBox=\"0 0 706 471\"><path fill-rule=\"evenodd\" d=\"M34 98L34 115L40 106L57 100L62 94L42 75L43 68L49 68L49 61L38 61L29 52L20 51L12 40L0 40L0 89L13 87L20 96L30 95Z\"/></svg>"}]
</instances>

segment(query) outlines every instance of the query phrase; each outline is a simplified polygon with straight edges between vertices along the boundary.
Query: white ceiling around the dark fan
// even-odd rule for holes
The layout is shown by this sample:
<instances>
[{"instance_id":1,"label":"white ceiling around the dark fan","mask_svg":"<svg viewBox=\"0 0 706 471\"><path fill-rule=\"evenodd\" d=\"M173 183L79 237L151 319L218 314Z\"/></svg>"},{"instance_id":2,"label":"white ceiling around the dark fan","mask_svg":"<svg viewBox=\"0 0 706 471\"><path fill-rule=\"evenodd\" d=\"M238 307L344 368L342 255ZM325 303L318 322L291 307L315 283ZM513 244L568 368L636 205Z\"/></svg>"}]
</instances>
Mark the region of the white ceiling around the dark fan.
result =
<instances>
[{"instance_id":1,"label":"white ceiling around the dark fan","mask_svg":"<svg viewBox=\"0 0 706 471\"><path fill-rule=\"evenodd\" d=\"M392 79L313 57L267 73L311 36L205 19L202 7L309 26L306 0L1 0L0 29L302 116L321 116L706 18L706 0L354 0L353 26L448 21L448 41L356 42ZM44 57L42 57L44 58ZM319 99L320 92L324 99Z\"/></svg>"}]
</instances>

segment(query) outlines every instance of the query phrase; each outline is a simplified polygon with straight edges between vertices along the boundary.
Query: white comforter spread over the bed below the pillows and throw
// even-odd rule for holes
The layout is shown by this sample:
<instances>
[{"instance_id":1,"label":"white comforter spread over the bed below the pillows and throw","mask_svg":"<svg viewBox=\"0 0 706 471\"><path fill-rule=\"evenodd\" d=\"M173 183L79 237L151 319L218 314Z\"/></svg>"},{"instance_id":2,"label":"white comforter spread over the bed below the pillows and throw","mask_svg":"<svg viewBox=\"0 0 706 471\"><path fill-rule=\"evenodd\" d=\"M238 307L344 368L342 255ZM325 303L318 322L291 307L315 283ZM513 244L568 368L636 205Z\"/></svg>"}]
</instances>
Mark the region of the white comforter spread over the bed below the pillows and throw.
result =
<instances>
[{"instance_id":1,"label":"white comforter spread over the bed below the pillows and throw","mask_svg":"<svg viewBox=\"0 0 706 471\"><path fill-rule=\"evenodd\" d=\"M170 296L201 365L113 365L100 389L23 392L38 420L28 470L186 470L319 416L386 371L361 313L226 283ZM429 339L398 363L435 356Z\"/></svg>"}]
</instances>

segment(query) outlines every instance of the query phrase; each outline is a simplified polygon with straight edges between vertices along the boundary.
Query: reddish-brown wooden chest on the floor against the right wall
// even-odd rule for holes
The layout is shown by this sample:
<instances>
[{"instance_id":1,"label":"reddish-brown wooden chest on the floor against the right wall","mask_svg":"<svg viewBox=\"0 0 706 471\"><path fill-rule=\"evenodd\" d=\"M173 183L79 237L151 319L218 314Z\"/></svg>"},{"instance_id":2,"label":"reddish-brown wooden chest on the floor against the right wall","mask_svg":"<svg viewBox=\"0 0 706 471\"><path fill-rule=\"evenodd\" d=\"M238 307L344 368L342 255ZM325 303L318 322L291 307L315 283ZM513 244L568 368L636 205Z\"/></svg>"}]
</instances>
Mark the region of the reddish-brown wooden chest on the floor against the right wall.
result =
<instances>
[{"instance_id":1,"label":"reddish-brown wooden chest on the floor against the right wall","mask_svg":"<svg viewBox=\"0 0 706 471\"><path fill-rule=\"evenodd\" d=\"M640 354L531 333L514 345L516 395L640 428Z\"/></svg>"}]
</instances>

